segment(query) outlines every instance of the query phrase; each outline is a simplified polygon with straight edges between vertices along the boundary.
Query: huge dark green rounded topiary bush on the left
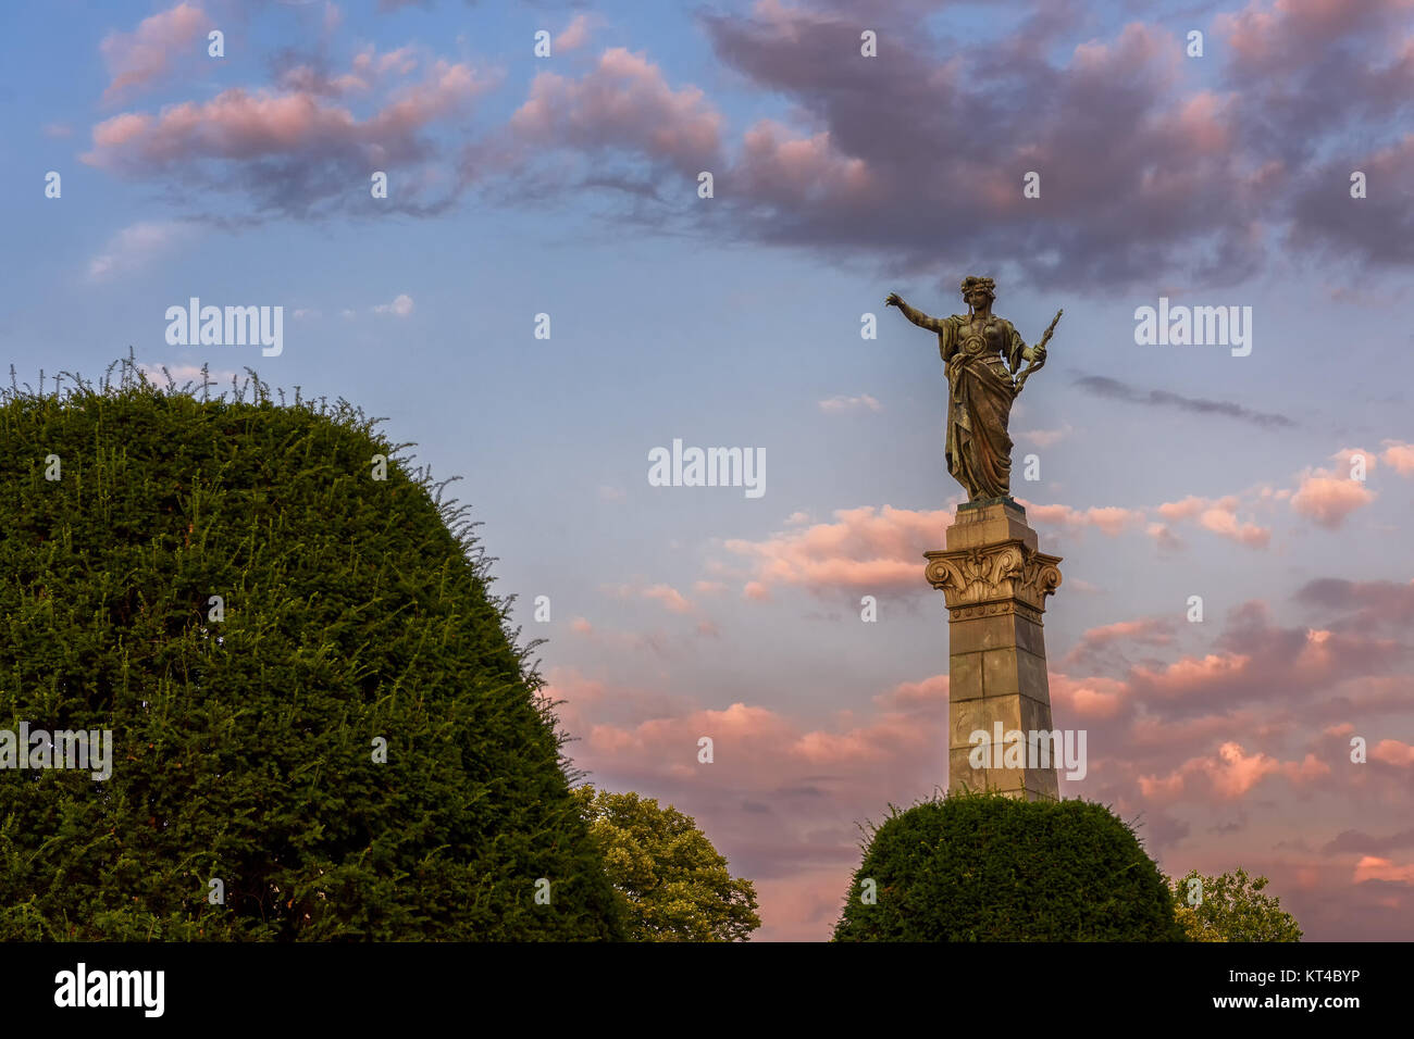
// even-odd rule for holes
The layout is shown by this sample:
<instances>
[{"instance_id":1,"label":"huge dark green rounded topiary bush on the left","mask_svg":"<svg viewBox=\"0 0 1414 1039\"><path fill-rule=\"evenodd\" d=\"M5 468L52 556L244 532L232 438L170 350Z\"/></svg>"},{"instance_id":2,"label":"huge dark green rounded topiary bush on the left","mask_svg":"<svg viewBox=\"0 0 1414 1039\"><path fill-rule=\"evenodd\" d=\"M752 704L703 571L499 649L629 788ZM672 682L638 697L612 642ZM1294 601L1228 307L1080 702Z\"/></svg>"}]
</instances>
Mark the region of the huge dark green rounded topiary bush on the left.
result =
<instances>
[{"instance_id":1,"label":"huge dark green rounded topiary bush on the left","mask_svg":"<svg viewBox=\"0 0 1414 1039\"><path fill-rule=\"evenodd\" d=\"M508 604L407 445L123 373L0 401L0 729L112 732L107 779L0 768L0 939L619 937Z\"/></svg>"}]
</instances>

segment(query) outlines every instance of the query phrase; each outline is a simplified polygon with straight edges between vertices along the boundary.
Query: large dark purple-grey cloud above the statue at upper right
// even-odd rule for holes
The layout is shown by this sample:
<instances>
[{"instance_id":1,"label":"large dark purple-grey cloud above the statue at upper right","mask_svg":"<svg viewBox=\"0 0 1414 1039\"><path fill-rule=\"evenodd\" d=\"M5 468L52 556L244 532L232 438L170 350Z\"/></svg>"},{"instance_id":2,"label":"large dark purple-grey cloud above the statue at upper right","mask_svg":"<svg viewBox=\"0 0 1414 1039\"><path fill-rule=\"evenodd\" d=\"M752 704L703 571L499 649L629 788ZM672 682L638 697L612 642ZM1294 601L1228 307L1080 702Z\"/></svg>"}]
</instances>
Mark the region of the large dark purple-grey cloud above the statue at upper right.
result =
<instances>
[{"instance_id":1,"label":"large dark purple-grey cloud above the statue at upper right","mask_svg":"<svg viewBox=\"0 0 1414 1039\"><path fill-rule=\"evenodd\" d=\"M868 185L836 189L822 205L773 189L769 177L738 175L748 191L737 228L831 259L872 254L895 270L943 274L936 242L964 225L976 266L1082 293L1151 286L1175 270L1230 286L1274 259L1325 250L1357 264L1408 263L1414 212L1398 185L1408 184L1414 137L1390 140L1414 88L1408 8L1367 7L1332 20L1329 0L1254 3L1219 23L1219 35L1230 31L1249 49L1215 55L1208 74L1184 59L1182 38L1165 25L1110 23L1104 38L1089 37L1076 4L1015 4L1012 24L986 47L943 37L932 6L891 4L875 14L878 59L853 54L858 11L830 0L703 14L718 59L782 98L807 140L829 143L829 164L850 164ZM1241 57L1288 54L1257 40L1314 57L1278 76ZM1348 85L1339 99L1331 82ZM1350 157L1349 133L1374 147ZM1377 170L1393 188L1352 212L1329 189L1349 168ZM1022 198L1025 171L1041 172L1039 198Z\"/></svg>"}]
</instances>

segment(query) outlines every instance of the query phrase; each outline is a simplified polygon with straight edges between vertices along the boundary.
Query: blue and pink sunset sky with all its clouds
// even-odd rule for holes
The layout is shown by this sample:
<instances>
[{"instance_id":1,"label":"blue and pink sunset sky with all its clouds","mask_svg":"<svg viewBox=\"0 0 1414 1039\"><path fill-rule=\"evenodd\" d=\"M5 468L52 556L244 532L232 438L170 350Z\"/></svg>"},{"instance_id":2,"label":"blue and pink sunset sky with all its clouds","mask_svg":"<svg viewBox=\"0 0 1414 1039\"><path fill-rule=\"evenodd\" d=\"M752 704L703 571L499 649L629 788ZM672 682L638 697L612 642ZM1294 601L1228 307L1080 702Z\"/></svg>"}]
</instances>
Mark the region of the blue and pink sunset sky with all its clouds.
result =
<instances>
[{"instance_id":1,"label":"blue and pink sunset sky with all its clouds","mask_svg":"<svg viewBox=\"0 0 1414 1039\"><path fill-rule=\"evenodd\" d=\"M969 274L1028 344L1065 310L1011 416L1062 796L1308 939L1414 936L1414 0L52 0L0 40L0 365L386 417L574 766L694 817L756 939L827 939L947 785L922 553L966 495L884 298ZM279 352L170 342L192 297L281 307ZM1250 341L1143 342L1161 305ZM674 440L762 493L652 485Z\"/></svg>"}]
</instances>

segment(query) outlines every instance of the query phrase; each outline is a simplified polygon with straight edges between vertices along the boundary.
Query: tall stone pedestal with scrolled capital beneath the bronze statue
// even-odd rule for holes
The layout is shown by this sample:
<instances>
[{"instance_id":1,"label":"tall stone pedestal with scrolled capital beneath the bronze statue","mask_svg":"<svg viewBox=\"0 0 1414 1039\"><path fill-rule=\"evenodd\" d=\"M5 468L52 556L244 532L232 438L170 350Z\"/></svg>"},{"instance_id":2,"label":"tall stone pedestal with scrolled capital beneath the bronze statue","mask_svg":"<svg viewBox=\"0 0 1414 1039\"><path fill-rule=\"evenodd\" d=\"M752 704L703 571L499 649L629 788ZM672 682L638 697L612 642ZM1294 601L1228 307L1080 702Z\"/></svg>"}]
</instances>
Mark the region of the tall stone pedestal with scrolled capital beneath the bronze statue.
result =
<instances>
[{"instance_id":1,"label":"tall stone pedestal with scrolled capital beneath the bronze statue","mask_svg":"<svg viewBox=\"0 0 1414 1039\"><path fill-rule=\"evenodd\" d=\"M943 591L949 614L949 789L1059 797L1053 756L1038 768L1039 755L1028 751L1022 768L995 768L1004 748L988 745L980 769L970 756L977 731L994 738L1000 724L1034 742L1032 732L1052 728L1041 615L1060 584L1060 557L1036 551L1036 532L1010 498L959 506L947 550L923 554L928 582Z\"/></svg>"}]
</instances>

